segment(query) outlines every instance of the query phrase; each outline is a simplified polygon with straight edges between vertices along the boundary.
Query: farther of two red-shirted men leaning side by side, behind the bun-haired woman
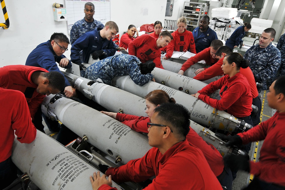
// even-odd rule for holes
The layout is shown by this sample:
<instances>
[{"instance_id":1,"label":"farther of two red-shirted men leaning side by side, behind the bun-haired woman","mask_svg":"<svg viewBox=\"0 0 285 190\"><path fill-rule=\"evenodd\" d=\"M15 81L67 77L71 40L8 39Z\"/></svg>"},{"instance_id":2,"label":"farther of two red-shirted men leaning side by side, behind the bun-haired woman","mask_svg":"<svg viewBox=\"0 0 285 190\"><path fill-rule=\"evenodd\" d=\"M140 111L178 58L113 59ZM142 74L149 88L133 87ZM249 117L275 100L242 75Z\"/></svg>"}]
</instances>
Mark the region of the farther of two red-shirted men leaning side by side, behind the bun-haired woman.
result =
<instances>
[{"instance_id":1,"label":"farther of two red-shirted men leaning side by side, behind the bun-haired woman","mask_svg":"<svg viewBox=\"0 0 285 190\"><path fill-rule=\"evenodd\" d=\"M206 64L211 66L213 64L215 64L218 59L216 58L215 53L217 52L217 50L223 46L223 42L221 40L213 40L213 42L211 43L211 46L209 48L204 49L203 51L199 52L198 54L196 54L193 57L190 57L181 67L180 71L178 72L178 74L183 75L184 72L191 67L192 65L194 65L195 63L201 61L201 60L205 60ZM203 71L204 69L198 69L196 72L199 73L201 71ZM196 73L195 72L195 73Z\"/></svg>"}]
</instances>

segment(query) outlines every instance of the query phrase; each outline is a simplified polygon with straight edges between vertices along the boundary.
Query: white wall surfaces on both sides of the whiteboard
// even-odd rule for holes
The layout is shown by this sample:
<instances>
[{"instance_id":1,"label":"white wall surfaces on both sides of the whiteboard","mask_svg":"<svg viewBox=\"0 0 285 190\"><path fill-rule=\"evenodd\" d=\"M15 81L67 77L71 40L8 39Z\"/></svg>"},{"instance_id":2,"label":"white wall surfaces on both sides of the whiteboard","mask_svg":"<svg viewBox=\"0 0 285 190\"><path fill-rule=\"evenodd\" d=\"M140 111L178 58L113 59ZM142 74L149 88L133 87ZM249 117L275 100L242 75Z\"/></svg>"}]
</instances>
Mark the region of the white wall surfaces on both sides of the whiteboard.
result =
<instances>
[{"instance_id":1,"label":"white wall surfaces on both sides of the whiteboard","mask_svg":"<svg viewBox=\"0 0 285 190\"><path fill-rule=\"evenodd\" d=\"M49 40L54 32L68 34L66 21L53 19L54 2L64 4L64 0L5 1L10 27L7 30L0 28L0 67L24 65L30 52ZM148 9L148 15L142 15L141 9ZM121 35L130 24L141 26L156 20L163 22L165 9L166 0L111 0L111 20L118 24ZM0 22L5 22L2 12ZM68 49L64 55L70 58L70 46Z\"/></svg>"}]
</instances>

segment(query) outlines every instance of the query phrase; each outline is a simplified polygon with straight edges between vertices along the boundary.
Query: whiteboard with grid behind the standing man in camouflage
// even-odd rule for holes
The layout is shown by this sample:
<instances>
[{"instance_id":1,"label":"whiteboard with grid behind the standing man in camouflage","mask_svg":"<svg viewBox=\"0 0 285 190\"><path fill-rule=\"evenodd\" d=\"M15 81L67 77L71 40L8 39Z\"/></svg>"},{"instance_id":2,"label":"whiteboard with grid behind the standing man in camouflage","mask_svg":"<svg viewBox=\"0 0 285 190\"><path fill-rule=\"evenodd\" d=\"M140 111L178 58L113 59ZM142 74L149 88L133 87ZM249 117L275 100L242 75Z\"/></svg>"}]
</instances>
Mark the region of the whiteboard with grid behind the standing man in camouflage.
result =
<instances>
[{"instance_id":1,"label":"whiteboard with grid behind the standing man in camouflage","mask_svg":"<svg viewBox=\"0 0 285 190\"><path fill-rule=\"evenodd\" d=\"M93 15L95 20L100 21L104 25L110 21L110 0L65 0L68 34L70 34L73 24L85 17L84 5L87 2L91 2L95 6L95 14Z\"/></svg>"}]
</instances>

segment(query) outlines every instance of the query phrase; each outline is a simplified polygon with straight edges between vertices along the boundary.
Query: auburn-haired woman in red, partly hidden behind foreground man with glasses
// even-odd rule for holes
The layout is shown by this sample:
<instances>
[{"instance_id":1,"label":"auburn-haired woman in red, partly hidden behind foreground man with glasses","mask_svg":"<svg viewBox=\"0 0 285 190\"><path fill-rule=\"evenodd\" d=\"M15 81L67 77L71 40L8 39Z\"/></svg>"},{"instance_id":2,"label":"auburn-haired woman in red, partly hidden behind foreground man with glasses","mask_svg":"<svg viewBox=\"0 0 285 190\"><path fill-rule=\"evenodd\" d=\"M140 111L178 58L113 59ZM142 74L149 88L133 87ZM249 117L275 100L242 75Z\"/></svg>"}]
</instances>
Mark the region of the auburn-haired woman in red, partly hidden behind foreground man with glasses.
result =
<instances>
[{"instance_id":1,"label":"auburn-haired woman in red, partly hidden behind foreground man with glasses","mask_svg":"<svg viewBox=\"0 0 285 190\"><path fill-rule=\"evenodd\" d=\"M131 129L137 132L144 132L148 133L147 130L147 123L150 122L150 119L154 113L154 109L162 103L175 103L176 101L174 98L170 98L168 94L163 90L154 90L148 93L145 97L146 99L146 111L148 117L139 117L136 115L128 115L122 113L113 113L113 112L105 112L101 111L102 113L113 117L114 119L126 124ZM197 148L199 148L211 170L218 178L219 182L222 186L227 187L227 189L231 189L232 186L232 175L229 168L224 167L223 157L219 153L217 149L215 149L211 144L205 142L196 131L194 131L191 127L190 131L188 132L186 139L188 142Z\"/></svg>"}]
</instances>

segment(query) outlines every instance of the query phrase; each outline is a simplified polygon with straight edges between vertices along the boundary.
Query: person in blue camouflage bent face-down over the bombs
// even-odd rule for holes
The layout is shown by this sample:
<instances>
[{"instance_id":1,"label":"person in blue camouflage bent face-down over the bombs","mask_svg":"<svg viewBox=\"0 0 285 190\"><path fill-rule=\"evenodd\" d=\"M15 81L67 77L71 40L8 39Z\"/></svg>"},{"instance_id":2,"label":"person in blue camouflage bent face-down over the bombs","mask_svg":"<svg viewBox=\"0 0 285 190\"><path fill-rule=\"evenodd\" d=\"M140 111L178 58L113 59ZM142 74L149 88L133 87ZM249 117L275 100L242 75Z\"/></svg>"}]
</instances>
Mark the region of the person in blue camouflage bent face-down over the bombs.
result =
<instances>
[{"instance_id":1,"label":"person in blue camouflage bent face-down over the bombs","mask_svg":"<svg viewBox=\"0 0 285 190\"><path fill-rule=\"evenodd\" d=\"M141 63L139 58L128 54L119 54L95 62L86 68L85 78L102 79L103 83L111 85L115 76L130 75L137 85L143 86L153 79L150 72L154 69L154 62Z\"/></svg>"}]
</instances>

